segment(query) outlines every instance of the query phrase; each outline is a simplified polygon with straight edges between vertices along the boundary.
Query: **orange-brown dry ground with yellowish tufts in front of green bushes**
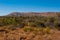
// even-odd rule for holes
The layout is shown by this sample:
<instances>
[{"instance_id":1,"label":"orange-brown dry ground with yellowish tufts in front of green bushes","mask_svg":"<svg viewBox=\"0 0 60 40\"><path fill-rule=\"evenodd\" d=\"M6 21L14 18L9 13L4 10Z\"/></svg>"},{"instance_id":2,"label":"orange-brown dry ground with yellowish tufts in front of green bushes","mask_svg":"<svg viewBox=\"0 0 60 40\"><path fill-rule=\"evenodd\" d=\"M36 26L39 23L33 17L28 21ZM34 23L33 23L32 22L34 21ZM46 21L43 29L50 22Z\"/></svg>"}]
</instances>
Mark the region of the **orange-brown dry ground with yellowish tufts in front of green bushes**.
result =
<instances>
[{"instance_id":1,"label":"orange-brown dry ground with yellowish tufts in front of green bushes","mask_svg":"<svg viewBox=\"0 0 60 40\"><path fill-rule=\"evenodd\" d=\"M0 32L0 40L60 40L60 31L56 29L25 27L5 31Z\"/></svg>"}]
</instances>

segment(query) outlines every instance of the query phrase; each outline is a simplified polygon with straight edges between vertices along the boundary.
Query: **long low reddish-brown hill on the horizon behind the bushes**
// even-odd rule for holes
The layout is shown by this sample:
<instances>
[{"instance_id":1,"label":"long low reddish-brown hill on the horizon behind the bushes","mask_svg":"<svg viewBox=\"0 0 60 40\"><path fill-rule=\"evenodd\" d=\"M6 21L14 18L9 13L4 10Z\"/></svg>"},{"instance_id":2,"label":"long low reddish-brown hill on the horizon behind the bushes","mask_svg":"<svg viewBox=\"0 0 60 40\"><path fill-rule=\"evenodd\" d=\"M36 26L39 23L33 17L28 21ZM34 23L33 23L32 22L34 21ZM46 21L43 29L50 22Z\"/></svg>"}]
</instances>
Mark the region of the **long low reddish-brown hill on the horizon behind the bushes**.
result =
<instances>
[{"instance_id":1,"label":"long low reddish-brown hill on the horizon behind the bushes","mask_svg":"<svg viewBox=\"0 0 60 40\"><path fill-rule=\"evenodd\" d=\"M12 12L7 16L57 16L60 12Z\"/></svg>"}]
</instances>

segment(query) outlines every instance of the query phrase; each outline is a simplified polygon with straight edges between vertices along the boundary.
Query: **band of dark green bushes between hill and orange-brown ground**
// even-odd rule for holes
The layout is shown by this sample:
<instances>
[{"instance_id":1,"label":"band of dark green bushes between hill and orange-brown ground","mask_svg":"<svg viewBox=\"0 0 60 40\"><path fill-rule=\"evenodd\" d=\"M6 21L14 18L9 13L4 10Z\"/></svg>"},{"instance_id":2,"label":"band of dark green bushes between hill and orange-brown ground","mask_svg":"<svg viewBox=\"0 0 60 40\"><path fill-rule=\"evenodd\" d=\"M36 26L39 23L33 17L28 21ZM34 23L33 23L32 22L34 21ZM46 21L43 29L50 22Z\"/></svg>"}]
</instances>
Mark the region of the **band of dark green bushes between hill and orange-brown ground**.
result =
<instances>
[{"instance_id":1,"label":"band of dark green bushes between hill and orange-brown ground","mask_svg":"<svg viewBox=\"0 0 60 40\"><path fill-rule=\"evenodd\" d=\"M0 26L9 26L14 27L59 27L60 26L60 16L57 14L57 17L44 17L44 16L20 16L20 17L0 17Z\"/></svg>"}]
</instances>

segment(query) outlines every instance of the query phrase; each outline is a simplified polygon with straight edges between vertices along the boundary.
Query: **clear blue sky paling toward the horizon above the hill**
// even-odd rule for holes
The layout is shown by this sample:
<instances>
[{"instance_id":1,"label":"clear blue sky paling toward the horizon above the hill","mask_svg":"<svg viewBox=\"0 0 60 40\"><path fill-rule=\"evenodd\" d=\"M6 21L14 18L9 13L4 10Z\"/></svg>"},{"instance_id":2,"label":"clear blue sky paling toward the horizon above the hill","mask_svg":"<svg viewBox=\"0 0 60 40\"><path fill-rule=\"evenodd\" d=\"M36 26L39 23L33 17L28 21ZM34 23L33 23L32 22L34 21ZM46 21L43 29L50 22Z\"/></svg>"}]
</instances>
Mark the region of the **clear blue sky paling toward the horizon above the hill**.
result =
<instances>
[{"instance_id":1,"label":"clear blue sky paling toward the horizon above the hill","mask_svg":"<svg viewBox=\"0 0 60 40\"><path fill-rule=\"evenodd\" d=\"M60 12L60 0L0 0L0 16L12 12Z\"/></svg>"}]
</instances>

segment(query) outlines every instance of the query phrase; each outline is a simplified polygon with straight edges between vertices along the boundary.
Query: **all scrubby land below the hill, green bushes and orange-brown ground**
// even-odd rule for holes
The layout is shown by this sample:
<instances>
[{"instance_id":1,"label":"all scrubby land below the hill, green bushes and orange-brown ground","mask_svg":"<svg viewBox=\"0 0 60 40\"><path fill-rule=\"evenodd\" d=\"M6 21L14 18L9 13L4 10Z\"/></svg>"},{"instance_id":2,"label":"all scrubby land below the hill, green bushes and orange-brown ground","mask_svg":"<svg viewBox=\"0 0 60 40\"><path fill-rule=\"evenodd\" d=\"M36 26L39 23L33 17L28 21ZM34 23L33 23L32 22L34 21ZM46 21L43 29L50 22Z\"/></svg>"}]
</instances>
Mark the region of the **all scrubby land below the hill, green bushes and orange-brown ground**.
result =
<instances>
[{"instance_id":1,"label":"all scrubby land below the hill, green bushes and orange-brown ground","mask_svg":"<svg viewBox=\"0 0 60 40\"><path fill-rule=\"evenodd\" d=\"M0 17L0 40L55 40L54 37L60 35L59 15Z\"/></svg>"}]
</instances>

